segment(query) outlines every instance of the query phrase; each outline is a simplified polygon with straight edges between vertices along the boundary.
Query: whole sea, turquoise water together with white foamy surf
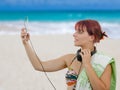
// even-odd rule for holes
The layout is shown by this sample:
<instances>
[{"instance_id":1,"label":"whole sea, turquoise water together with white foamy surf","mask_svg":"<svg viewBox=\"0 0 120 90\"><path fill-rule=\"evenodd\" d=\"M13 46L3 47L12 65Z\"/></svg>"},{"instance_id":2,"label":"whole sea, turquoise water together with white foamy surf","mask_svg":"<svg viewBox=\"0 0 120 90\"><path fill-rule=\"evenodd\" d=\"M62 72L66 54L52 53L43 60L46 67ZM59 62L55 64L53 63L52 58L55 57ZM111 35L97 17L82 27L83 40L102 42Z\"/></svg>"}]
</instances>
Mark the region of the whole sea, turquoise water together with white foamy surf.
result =
<instances>
[{"instance_id":1,"label":"whole sea, turquoise water together with white foamy surf","mask_svg":"<svg viewBox=\"0 0 120 90\"><path fill-rule=\"evenodd\" d=\"M97 20L109 38L120 38L120 10L0 11L0 35L20 34L25 26L34 35L72 34L85 19Z\"/></svg>"}]
</instances>

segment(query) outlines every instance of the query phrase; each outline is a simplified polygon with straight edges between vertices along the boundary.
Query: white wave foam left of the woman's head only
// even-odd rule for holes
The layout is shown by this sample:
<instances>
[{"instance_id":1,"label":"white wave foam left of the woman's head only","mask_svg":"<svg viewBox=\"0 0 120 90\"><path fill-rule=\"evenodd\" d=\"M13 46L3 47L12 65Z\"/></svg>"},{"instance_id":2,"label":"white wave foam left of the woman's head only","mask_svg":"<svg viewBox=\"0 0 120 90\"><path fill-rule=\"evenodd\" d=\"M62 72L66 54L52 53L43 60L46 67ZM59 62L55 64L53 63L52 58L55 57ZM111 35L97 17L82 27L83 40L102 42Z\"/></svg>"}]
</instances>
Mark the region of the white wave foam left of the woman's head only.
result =
<instances>
[{"instance_id":1,"label":"white wave foam left of the woman's head only","mask_svg":"<svg viewBox=\"0 0 120 90\"><path fill-rule=\"evenodd\" d=\"M28 31L32 34L64 34L74 31L74 22L29 22ZM18 33L24 22L0 22L0 34Z\"/></svg>"}]
</instances>

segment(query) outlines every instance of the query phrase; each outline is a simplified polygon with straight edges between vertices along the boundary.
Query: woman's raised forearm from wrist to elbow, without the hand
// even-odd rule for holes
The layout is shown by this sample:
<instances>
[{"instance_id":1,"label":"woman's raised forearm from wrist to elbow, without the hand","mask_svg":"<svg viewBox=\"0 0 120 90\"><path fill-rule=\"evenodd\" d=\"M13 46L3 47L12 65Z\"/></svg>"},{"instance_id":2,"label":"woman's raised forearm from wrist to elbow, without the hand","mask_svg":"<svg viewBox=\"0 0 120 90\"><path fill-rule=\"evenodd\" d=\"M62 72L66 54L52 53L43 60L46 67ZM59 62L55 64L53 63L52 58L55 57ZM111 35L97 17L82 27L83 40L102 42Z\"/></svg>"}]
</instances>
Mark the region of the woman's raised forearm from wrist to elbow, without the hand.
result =
<instances>
[{"instance_id":1,"label":"woman's raised forearm from wrist to elbow, without the hand","mask_svg":"<svg viewBox=\"0 0 120 90\"><path fill-rule=\"evenodd\" d=\"M31 48L30 44L27 42L26 44L24 44L27 56L32 64L32 66L34 67L35 70L39 70L39 71L43 71L43 68L41 66L41 61L39 60L39 58L37 57L36 53L34 52L34 50Z\"/></svg>"}]
</instances>

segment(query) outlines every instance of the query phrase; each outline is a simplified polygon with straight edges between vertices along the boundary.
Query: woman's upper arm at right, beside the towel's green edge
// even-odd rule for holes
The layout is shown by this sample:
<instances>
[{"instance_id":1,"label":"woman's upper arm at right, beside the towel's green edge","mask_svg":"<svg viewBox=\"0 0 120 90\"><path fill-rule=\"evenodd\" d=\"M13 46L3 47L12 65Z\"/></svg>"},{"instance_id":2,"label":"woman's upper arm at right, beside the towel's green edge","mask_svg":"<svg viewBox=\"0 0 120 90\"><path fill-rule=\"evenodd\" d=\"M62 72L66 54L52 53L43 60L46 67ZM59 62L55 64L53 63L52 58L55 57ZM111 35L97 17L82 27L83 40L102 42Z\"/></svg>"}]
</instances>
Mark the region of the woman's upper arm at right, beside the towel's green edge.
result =
<instances>
[{"instance_id":1,"label":"woman's upper arm at right, beside the towel's green edge","mask_svg":"<svg viewBox=\"0 0 120 90\"><path fill-rule=\"evenodd\" d=\"M100 79L102 80L102 82L104 83L105 87L107 88L107 90L110 89L110 83L111 83L111 65L108 64L105 71L103 72L102 76L100 77Z\"/></svg>"}]
</instances>

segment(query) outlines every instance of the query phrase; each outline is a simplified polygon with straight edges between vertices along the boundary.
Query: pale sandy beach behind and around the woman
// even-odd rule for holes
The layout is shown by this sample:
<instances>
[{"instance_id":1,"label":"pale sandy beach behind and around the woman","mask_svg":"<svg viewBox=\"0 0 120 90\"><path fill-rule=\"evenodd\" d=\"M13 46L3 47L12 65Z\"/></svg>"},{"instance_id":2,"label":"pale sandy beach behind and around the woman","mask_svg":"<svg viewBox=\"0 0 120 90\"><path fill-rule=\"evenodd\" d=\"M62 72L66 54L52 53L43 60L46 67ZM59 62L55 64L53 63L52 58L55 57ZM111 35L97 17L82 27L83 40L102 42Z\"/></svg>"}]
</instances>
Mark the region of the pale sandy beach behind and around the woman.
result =
<instances>
[{"instance_id":1,"label":"pale sandy beach behind and around the woman","mask_svg":"<svg viewBox=\"0 0 120 90\"><path fill-rule=\"evenodd\" d=\"M33 46L41 60L75 53L71 34L31 35ZM97 49L116 59L117 88L120 90L120 39L105 39ZM67 69L48 73L57 90L66 90ZM0 35L0 90L54 90L43 72L35 71L28 60L20 35Z\"/></svg>"}]
</instances>

